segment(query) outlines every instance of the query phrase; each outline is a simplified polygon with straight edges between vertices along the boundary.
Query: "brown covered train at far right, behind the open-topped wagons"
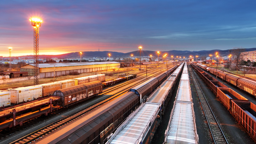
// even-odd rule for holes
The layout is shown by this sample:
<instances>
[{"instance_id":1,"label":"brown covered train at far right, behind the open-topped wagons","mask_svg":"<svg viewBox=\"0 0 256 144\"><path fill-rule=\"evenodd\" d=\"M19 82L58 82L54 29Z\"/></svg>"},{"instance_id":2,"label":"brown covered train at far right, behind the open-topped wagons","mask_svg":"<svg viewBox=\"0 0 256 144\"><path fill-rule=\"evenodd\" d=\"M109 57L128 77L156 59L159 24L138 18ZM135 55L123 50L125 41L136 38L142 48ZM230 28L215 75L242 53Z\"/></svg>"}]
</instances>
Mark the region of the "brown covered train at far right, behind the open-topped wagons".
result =
<instances>
[{"instance_id":1,"label":"brown covered train at far right, behind the open-topped wagons","mask_svg":"<svg viewBox=\"0 0 256 144\"><path fill-rule=\"evenodd\" d=\"M256 97L256 81L246 79L241 76L233 75L227 72L223 72L218 69L210 68L203 64L198 63L198 66L204 70L209 71L213 75L217 75L219 78L231 83L232 85L235 85L236 87Z\"/></svg>"}]
</instances>

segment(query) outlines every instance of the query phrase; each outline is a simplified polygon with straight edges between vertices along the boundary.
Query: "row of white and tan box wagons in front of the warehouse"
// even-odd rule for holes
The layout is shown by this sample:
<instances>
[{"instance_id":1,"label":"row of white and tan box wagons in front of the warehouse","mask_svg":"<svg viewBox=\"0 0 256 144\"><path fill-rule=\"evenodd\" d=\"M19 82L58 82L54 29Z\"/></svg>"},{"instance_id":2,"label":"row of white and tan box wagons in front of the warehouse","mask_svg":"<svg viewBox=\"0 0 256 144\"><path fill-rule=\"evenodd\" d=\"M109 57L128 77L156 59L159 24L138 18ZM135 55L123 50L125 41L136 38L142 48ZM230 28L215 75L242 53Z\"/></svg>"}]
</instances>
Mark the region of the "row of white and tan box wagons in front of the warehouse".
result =
<instances>
[{"instance_id":1,"label":"row of white and tan box wagons in front of the warehouse","mask_svg":"<svg viewBox=\"0 0 256 144\"><path fill-rule=\"evenodd\" d=\"M54 91L58 89L63 89L67 87L72 87L92 81L105 81L105 75L91 75L80 78L74 78L64 81L50 82L40 85L28 86L28 87L18 87L14 89L9 89L9 91L0 92L0 109L4 107L15 105L19 103L24 103L34 99L43 98L51 95Z\"/></svg>"}]
</instances>

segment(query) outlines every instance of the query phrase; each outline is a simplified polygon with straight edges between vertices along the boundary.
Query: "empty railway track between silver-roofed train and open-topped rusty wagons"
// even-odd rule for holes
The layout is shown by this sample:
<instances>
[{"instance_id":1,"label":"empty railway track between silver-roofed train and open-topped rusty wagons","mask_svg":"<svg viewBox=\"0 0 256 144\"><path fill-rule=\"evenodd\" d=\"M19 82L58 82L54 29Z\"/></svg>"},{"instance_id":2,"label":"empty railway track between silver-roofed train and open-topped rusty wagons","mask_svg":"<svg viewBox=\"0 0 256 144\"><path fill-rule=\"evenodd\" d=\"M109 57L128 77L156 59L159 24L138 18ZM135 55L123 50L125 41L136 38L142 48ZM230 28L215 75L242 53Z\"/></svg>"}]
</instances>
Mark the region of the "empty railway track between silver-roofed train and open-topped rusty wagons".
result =
<instances>
[{"instance_id":1,"label":"empty railway track between silver-roofed train and open-topped rusty wagons","mask_svg":"<svg viewBox=\"0 0 256 144\"><path fill-rule=\"evenodd\" d=\"M208 102L204 96L204 93L202 92L202 89L198 84L198 81L196 80L190 67L189 67L189 69L191 72L192 80L195 85L199 100L203 107L204 115L205 115L207 123L209 125L210 132L213 137L214 143L215 144L228 144L228 141L227 141L218 121L216 120L216 117L214 116L214 114L210 108L210 105L208 104Z\"/></svg>"}]
</instances>

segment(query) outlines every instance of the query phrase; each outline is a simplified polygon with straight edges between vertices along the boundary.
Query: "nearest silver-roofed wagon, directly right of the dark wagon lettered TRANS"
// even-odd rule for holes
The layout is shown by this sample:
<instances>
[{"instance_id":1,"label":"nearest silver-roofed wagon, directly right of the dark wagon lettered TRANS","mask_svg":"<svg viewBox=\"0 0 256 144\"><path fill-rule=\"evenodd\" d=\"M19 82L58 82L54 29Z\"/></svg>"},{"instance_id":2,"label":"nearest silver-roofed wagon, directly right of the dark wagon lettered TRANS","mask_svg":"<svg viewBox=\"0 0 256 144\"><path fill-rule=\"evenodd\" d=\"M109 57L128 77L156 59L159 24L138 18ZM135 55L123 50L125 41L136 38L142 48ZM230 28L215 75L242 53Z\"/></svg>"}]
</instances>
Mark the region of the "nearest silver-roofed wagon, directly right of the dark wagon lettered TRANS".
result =
<instances>
[{"instance_id":1,"label":"nearest silver-roofed wagon, directly right of the dark wagon lettered TRANS","mask_svg":"<svg viewBox=\"0 0 256 144\"><path fill-rule=\"evenodd\" d=\"M150 143L160 123L160 105L143 103L120 125L107 144Z\"/></svg>"}]
</instances>

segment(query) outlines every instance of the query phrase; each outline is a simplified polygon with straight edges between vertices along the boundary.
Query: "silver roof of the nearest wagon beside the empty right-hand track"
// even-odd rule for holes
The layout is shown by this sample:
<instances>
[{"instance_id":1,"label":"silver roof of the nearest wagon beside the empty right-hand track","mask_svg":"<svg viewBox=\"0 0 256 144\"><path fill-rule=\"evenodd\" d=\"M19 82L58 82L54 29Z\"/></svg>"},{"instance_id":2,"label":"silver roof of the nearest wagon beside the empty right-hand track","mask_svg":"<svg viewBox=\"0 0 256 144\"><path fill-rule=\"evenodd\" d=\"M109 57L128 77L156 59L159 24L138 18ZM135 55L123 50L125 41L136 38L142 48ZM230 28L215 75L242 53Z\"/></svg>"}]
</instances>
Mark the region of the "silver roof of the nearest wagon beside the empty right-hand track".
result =
<instances>
[{"instance_id":1,"label":"silver roof of the nearest wagon beside the empty right-hand track","mask_svg":"<svg viewBox=\"0 0 256 144\"><path fill-rule=\"evenodd\" d=\"M196 143L192 104L176 103L174 107L175 111L171 117L171 125L165 143Z\"/></svg>"}]
</instances>

